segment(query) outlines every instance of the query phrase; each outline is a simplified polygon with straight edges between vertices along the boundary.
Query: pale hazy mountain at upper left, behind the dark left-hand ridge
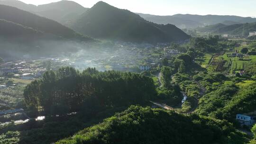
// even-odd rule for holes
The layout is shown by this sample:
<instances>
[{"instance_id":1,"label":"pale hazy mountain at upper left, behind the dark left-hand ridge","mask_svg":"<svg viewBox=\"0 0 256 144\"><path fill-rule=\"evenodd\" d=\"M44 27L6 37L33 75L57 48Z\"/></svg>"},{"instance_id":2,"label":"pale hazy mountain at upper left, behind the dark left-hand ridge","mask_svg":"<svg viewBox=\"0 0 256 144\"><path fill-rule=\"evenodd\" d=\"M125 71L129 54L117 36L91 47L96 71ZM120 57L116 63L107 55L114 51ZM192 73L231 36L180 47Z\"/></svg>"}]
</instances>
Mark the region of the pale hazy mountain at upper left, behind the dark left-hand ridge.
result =
<instances>
[{"instance_id":1,"label":"pale hazy mountain at upper left, behind the dark left-hand ridge","mask_svg":"<svg viewBox=\"0 0 256 144\"><path fill-rule=\"evenodd\" d=\"M84 8L74 1L62 0L44 5L26 4L19 0L0 0L0 4L16 7L42 17L53 19L61 24L66 24L85 12Z\"/></svg>"}]
</instances>

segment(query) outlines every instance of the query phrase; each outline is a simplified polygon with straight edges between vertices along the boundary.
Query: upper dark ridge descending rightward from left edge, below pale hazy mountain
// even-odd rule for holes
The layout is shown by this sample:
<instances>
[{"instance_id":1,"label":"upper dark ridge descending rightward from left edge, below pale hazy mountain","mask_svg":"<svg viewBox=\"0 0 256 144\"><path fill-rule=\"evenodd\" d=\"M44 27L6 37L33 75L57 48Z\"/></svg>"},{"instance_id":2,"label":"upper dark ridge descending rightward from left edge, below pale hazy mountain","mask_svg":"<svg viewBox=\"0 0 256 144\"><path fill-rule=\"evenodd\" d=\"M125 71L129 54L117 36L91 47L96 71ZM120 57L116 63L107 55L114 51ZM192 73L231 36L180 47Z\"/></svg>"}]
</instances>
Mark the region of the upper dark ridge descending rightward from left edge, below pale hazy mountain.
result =
<instances>
[{"instance_id":1,"label":"upper dark ridge descending rightward from left edge, below pale hazy mountain","mask_svg":"<svg viewBox=\"0 0 256 144\"><path fill-rule=\"evenodd\" d=\"M30 12L6 5L0 5L0 19L5 19L25 27L31 27L35 30L53 34L55 36L61 36L66 39L91 40L91 38L82 36L54 20L43 18Z\"/></svg>"}]
</instances>

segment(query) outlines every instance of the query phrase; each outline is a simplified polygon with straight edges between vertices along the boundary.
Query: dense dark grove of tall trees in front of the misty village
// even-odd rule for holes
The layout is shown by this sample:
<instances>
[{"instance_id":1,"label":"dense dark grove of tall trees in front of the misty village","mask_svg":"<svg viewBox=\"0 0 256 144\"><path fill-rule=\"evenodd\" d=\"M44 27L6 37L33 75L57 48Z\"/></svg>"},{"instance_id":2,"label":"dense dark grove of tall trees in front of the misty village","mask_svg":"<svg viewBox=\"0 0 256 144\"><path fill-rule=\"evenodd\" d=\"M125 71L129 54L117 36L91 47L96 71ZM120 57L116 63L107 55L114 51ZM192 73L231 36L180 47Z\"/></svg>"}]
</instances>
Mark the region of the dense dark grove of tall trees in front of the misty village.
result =
<instances>
[{"instance_id":1,"label":"dense dark grove of tall trees in front of the misty village","mask_svg":"<svg viewBox=\"0 0 256 144\"><path fill-rule=\"evenodd\" d=\"M28 108L41 106L50 116L143 104L155 95L153 80L143 75L91 68L78 72L70 67L45 72L41 80L31 82L24 90Z\"/></svg>"}]
</instances>

